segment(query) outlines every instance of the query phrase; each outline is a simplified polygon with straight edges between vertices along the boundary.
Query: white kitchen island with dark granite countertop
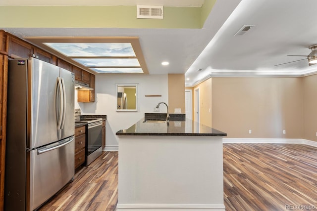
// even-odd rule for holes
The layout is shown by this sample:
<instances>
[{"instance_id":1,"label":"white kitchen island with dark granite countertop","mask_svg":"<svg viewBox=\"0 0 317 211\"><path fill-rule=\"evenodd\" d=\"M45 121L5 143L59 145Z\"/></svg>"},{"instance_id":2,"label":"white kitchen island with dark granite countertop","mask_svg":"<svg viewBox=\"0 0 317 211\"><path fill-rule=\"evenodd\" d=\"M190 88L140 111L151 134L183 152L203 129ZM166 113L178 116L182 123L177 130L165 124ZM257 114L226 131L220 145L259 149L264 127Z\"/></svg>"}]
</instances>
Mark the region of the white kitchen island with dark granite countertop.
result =
<instances>
[{"instance_id":1,"label":"white kitchen island with dark granite countertop","mask_svg":"<svg viewBox=\"0 0 317 211\"><path fill-rule=\"evenodd\" d=\"M119 130L117 211L225 211L222 137L191 120Z\"/></svg>"}]
</instances>

